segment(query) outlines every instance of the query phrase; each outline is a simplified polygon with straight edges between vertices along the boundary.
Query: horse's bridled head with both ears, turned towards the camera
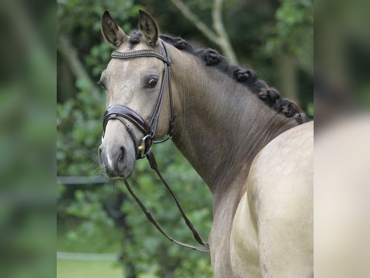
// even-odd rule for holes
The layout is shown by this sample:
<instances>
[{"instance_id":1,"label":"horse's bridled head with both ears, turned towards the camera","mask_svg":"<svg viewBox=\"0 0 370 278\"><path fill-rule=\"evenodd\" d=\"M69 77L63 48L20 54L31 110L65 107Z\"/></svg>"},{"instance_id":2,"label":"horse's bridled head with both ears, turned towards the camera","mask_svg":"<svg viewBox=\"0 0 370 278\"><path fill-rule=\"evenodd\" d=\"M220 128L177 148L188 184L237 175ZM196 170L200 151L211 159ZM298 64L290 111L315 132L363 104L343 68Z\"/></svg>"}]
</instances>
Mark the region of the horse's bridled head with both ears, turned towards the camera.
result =
<instances>
[{"instance_id":1,"label":"horse's bridled head with both ears, turned towards the camera","mask_svg":"<svg viewBox=\"0 0 370 278\"><path fill-rule=\"evenodd\" d=\"M142 10L139 28L141 32L129 37L108 11L101 19L104 38L117 48L98 82L105 89L107 108L99 163L111 178L131 176L135 160L145 156L152 139L168 133L172 118L165 86L168 50L154 19Z\"/></svg>"}]
</instances>

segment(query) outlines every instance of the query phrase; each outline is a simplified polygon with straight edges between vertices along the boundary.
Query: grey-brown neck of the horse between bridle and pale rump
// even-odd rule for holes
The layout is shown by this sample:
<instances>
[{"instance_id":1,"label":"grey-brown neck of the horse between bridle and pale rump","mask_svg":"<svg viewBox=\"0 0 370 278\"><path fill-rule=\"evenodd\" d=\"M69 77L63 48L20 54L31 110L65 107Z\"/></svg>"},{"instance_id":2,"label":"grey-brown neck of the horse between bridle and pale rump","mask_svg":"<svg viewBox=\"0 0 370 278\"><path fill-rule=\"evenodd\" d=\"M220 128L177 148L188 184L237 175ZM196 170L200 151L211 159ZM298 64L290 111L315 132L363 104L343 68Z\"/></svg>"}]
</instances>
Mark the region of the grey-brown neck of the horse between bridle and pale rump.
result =
<instances>
[{"instance_id":1,"label":"grey-brown neck of the horse between bridle and pale rump","mask_svg":"<svg viewBox=\"0 0 370 278\"><path fill-rule=\"evenodd\" d=\"M176 147L214 197L242 187L259 150L297 123L198 57L171 52Z\"/></svg>"}]
</instances>

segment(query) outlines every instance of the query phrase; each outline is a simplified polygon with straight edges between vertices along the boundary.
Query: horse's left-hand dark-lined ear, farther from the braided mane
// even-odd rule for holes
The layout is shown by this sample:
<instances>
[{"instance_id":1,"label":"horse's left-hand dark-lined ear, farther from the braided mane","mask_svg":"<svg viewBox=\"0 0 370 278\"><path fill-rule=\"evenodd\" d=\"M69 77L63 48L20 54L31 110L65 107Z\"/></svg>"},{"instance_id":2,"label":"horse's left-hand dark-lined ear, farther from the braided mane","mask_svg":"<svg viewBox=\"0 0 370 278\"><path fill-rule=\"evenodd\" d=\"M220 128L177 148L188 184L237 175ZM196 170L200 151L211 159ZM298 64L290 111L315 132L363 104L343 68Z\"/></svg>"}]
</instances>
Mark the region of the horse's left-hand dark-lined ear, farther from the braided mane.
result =
<instances>
[{"instance_id":1,"label":"horse's left-hand dark-lined ear, farther from the braided mane","mask_svg":"<svg viewBox=\"0 0 370 278\"><path fill-rule=\"evenodd\" d=\"M104 11L101 17L100 27L104 38L115 47L118 47L127 38L125 32L118 26L107 10Z\"/></svg>"}]
</instances>

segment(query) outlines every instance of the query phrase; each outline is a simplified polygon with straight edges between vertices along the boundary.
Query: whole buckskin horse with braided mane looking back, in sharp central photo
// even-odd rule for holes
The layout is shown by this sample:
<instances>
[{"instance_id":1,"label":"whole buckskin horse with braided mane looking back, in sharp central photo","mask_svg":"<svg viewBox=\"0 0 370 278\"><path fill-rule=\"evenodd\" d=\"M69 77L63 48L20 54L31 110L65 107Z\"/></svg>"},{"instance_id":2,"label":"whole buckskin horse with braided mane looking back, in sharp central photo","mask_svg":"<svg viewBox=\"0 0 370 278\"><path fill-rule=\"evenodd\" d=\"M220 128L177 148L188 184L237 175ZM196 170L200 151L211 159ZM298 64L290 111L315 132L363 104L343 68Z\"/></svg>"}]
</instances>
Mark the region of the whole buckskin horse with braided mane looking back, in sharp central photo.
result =
<instances>
[{"instance_id":1,"label":"whole buckskin horse with braided mane looking back, in sharp central photo","mask_svg":"<svg viewBox=\"0 0 370 278\"><path fill-rule=\"evenodd\" d=\"M168 134L213 194L215 277L313 277L313 122L299 105L215 50L160 35L145 11L131 37L108 11L101 32L117 49L98 82L107 112L131 115L106 112L105 173L129 178L147 137Z\"/></svg>"}]
</instances>

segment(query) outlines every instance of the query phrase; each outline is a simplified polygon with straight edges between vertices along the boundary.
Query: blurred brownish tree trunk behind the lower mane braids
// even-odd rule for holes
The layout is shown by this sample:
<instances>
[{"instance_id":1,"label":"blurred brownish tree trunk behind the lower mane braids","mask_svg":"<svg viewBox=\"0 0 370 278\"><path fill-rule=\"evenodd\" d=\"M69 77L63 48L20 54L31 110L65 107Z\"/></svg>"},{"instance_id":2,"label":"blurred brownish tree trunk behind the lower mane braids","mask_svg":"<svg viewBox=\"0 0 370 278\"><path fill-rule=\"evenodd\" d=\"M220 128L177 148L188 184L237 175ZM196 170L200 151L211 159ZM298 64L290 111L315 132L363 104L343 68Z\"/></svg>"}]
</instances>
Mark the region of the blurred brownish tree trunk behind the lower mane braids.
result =
<instances>
[{"instance_id":1,"label":"blurred brownish tree trunk behind the lower mane braids","mask_svg":"<svg viewBox=\"0 0 370 278\"><path fill-rule=\"evenodd\" d=\"M296 58L280 53L274 59L277 69L276 89L283 97L289 97L295 100L299 99Z\"/></svg>"}]
</instances>

